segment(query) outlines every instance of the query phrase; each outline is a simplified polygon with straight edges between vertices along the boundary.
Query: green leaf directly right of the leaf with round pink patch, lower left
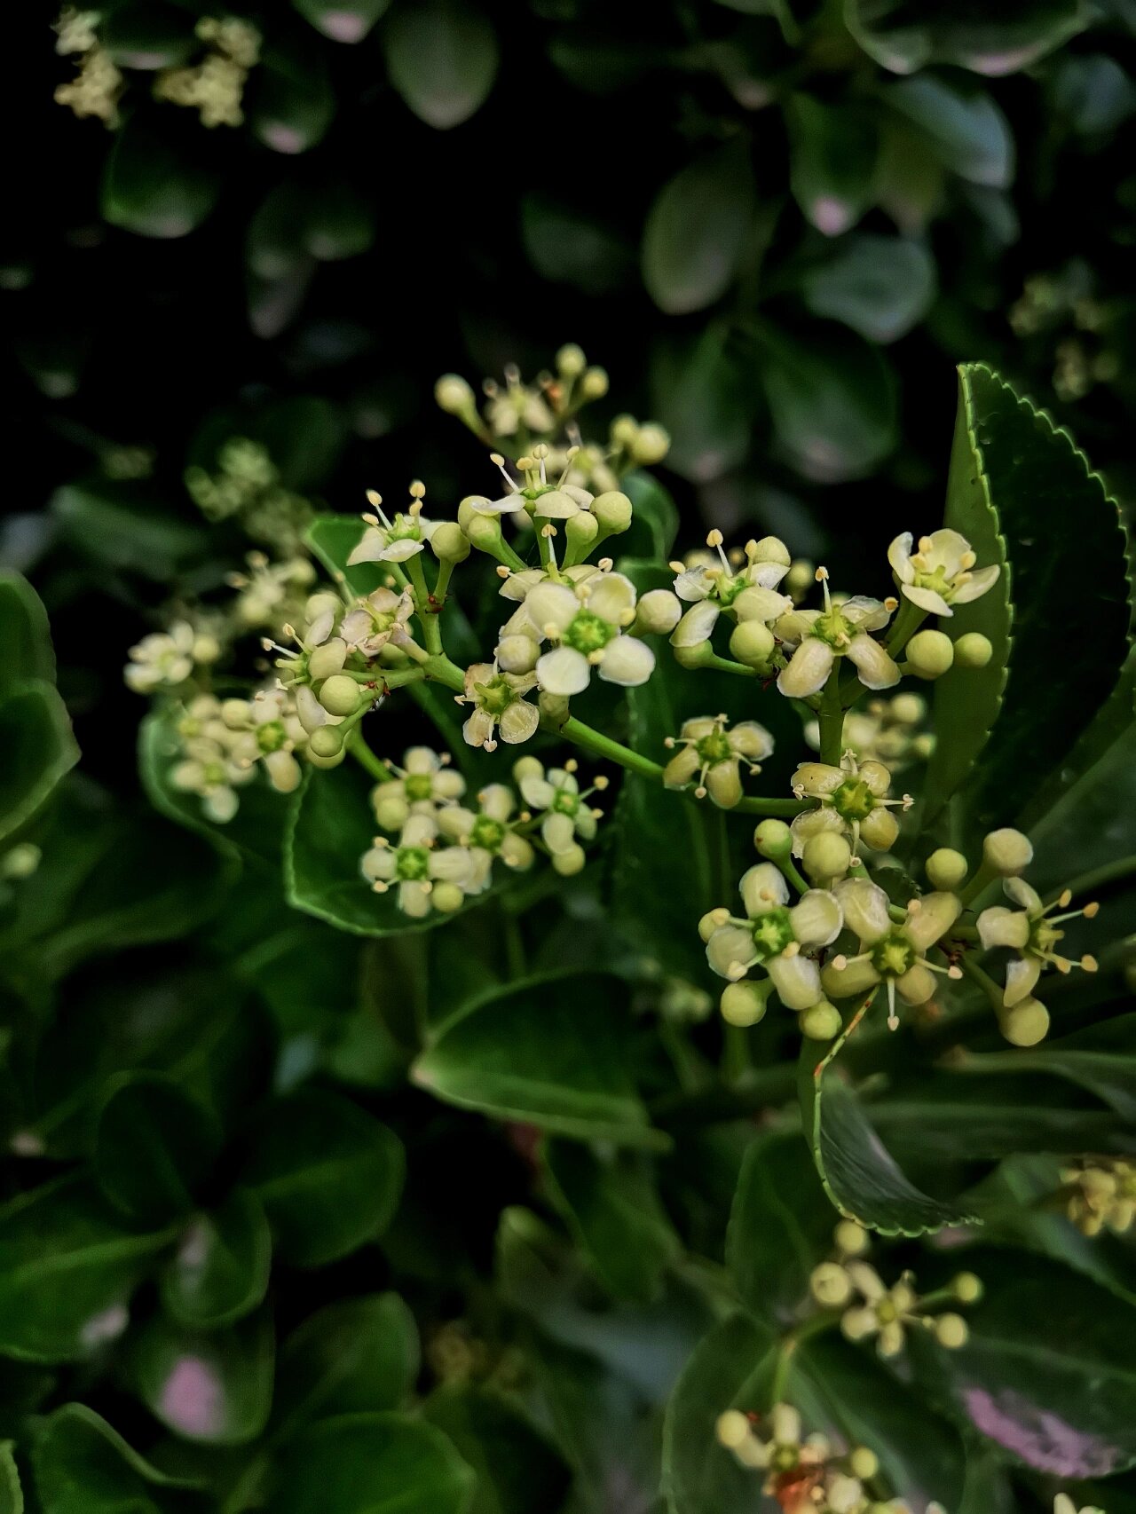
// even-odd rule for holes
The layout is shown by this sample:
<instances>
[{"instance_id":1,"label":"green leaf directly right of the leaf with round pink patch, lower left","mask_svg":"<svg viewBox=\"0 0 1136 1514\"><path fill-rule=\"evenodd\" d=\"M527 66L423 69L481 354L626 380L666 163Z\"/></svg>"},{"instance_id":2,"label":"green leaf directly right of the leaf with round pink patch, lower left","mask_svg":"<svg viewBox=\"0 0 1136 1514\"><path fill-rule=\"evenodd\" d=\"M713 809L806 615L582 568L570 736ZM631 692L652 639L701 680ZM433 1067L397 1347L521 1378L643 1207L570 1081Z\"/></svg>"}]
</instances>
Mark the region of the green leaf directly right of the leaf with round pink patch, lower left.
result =
<instances>
[{"instance_id":1,"label":"green leaf directly right of the leaf with round pink patch, lower left","mask_svg":"<svg viewBox=\"0 0 1136 1514\"><path fill-rule=\"evenodd\" d=\"M329 1304L280 1352L273 1419L288 1438L333 1414L401 1408L420 1369L418 1326L397 1293Z\"/></svg>"}]
</instances>

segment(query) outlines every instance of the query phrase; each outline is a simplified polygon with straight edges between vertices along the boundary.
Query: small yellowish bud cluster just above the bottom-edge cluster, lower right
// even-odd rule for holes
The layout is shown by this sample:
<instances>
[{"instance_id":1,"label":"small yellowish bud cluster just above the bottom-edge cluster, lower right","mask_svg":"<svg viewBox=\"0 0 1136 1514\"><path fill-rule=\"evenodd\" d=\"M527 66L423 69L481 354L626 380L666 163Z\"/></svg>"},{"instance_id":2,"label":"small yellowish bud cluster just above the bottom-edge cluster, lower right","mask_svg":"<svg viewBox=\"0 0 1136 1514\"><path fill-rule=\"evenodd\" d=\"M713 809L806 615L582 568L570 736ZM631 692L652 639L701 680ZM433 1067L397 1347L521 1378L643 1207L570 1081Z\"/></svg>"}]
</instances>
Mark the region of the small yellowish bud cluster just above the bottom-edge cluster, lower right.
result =
<instances>
[{"instance_id":1,"label":"small yellowish bud cluster just above the bottom-edge cluster, lower right","mask_svg":"<svg viewBox=\"0 0 1136 1514\"><path fill-rule=\"evenodd\" d=\"M904 1272L888 1287L863 1255L868 1232L854 1220L835 1231L836 1257L813 1269L813 1299L825 1310L841 1310L841 1331L848 1340L874 1340L880 1357L897 1357L909 1329L925 1329L948 1350L966 1343L966 1320L954 1311L938 1313L945 1304L977 1304L982 1282L960 1272L945 1288L919 1296L915 1278Z\"/></svg>"}]
</instances>

